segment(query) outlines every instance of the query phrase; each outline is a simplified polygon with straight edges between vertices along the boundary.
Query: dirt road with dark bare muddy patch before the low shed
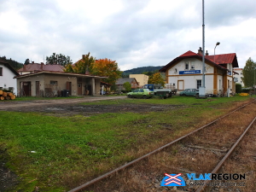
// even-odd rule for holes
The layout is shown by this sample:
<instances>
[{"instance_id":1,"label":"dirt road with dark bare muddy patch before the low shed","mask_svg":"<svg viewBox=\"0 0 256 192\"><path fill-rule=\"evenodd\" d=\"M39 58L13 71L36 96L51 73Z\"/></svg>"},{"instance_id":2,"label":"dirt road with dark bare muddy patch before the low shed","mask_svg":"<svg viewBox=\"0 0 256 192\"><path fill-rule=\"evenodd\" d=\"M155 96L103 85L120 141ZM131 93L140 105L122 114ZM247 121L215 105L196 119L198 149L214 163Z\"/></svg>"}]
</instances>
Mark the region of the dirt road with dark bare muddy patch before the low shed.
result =
<instances>
[{"instance_id":1,"label":"dirt road with dark bare muddy patch before the low shed","mask_svg":"<svg viewBox=\"0 0 256 192\"><path fill-rule=\"evenodd\" d=\"M177 105L160 104L132 104L119 103L117 105L95 105L82 102L96 102L101 100L125 99L126 96L90 96L79 99L61 99L61 100L37 100L26 102L0 102L0 111L17 112L40 112L54 116L66 116L72 114L91 115L96 113L122 113L133 112L143 113L150 111L163 111L170 108L180 108Z\"/></svg>"}]
</instances>

